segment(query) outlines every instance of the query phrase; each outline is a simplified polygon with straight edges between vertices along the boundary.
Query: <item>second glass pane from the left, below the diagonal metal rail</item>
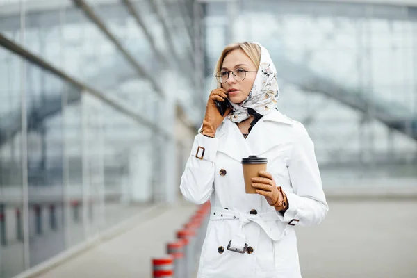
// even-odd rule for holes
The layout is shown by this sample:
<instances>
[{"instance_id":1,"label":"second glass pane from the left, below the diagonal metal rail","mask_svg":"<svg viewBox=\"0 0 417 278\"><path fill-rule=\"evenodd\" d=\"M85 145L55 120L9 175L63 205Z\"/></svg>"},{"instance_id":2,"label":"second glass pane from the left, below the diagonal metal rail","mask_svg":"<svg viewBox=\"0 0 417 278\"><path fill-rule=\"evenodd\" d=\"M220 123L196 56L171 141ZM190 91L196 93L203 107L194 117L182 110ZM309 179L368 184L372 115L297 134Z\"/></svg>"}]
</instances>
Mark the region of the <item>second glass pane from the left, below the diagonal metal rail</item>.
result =
<instances>
[{"instance_id":1,"label":"second glass pane from the left, below the diagonal metal rail","mask_svg":"<svg viewBox=\"0 0 417 278\"><path fill-rule=\"evenodd\" d=\"M65 250L63 90L67 83L27 65L28 202L31 266Z\"/></svg>"}]
</instances>

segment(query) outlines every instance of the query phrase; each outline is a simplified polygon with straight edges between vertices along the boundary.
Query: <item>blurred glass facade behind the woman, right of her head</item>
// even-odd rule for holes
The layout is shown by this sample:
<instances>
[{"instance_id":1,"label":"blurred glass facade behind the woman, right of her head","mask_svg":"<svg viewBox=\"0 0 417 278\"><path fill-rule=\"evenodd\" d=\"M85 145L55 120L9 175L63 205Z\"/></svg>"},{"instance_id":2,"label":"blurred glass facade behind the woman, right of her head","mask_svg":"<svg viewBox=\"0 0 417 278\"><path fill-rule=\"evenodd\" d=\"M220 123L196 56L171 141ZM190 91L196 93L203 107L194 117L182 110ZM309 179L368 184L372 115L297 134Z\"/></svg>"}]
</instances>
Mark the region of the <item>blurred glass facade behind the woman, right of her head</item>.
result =
<instances>
[{"instance_id":1,"label":"blurred glass facade behind the woman, right of her head","mask_svg":"<svg viewBox=\"0 0 417 278\"><path fill-rule=\"evenodd\" d=\"M377 165L415 161L415 22L389 18L401 15L388 6L362 10L348 3L269 0L229 5L205 6L205 67L213 68L224 44L261 42L277 67L278 108L306 126L320 165L341 163L356 178L370 170L354 165L373 165L371 172L382 177L387 170L377 172ZM211 76L206 71L206 83Z\"/></svg>"}]
</instances>

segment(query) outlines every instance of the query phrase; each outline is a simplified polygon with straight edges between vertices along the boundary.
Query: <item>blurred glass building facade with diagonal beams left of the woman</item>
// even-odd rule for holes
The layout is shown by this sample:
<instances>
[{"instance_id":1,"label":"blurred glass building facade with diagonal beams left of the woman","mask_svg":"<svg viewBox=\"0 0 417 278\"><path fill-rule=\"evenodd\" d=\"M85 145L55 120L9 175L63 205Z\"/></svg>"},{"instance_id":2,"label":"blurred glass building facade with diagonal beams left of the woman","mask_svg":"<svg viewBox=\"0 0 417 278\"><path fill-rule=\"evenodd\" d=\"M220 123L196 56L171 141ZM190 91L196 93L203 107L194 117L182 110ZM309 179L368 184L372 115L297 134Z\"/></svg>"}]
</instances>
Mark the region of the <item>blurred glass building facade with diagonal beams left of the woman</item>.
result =
<instances>
[{"instance_id":1,"label":"blurred glass building facade with diagonal beams left of the woman","mask_svg":"<svg viewBox=\"0 0 417 278\"><path fill-rule=\"evenodd\" d=\"M177 199L175 119L201 113L192 17L186 3L0 1L1 278Z\"/></svg>"}]
</instances>

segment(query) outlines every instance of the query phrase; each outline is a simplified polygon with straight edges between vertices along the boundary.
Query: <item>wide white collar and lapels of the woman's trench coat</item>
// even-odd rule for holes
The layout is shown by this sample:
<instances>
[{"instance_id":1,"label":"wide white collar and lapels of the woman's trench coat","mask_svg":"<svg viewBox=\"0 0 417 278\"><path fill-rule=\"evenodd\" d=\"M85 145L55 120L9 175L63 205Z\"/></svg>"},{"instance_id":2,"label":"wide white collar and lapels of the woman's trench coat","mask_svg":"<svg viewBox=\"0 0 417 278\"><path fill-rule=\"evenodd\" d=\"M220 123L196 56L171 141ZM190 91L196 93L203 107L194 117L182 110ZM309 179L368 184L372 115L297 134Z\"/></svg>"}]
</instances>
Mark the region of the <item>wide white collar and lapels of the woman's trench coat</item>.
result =
<instances>
[{"instance_id":1,"label":"wide white collar and lapels of the woman's trench coat","mask_svg":"<svg viewBox=\"0 0 417 278\"><path fill-rule=\"evenodd\" d=\"M272 147L284 143L280 134L282 130L279 129L277 124L292 126L293 120L277 110L272 111L254 125L250 135L245 140L238 126L231 120L225 119L218 132L216 132L216 137L220 140L218 151L224 152L239 162L243 157L264 154Z\"/></svg>"}]
</instances>

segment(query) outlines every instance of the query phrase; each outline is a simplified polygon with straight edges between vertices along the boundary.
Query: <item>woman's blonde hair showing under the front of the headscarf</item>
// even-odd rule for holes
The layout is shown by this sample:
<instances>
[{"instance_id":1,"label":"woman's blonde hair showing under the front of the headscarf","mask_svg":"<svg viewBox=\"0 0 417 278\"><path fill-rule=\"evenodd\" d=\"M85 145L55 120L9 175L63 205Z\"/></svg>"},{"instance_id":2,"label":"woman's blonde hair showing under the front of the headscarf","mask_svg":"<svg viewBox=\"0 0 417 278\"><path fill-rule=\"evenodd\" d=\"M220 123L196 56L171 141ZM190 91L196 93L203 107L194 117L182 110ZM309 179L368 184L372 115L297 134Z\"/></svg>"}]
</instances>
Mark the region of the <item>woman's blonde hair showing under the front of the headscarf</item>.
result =
<instances>
[{"instance_id":1,"label":"woman's blonde hair showing under the front of the headscarf","mask_svg":"<svg viewBox=\"0 0 417 278\"><path fill-rule=\"evenodd\" d=\"M261 63L261 47L259 47L258 44L253 42L237 42L234 44L229 44L227 45L227 47L224 47L222 54L220 55L220 58L215 65L214 74L217 74L222 68L224 57L226 57L227 54L236 49L242 49L243 52L245 52L245 54L250 58L250 60L252 60L252 62L256 66L256 69L259 68L259 64ZM217 83L218 88L220 88L222 84L220 84L219 82Z\"/></svg>"}]
</instances>

